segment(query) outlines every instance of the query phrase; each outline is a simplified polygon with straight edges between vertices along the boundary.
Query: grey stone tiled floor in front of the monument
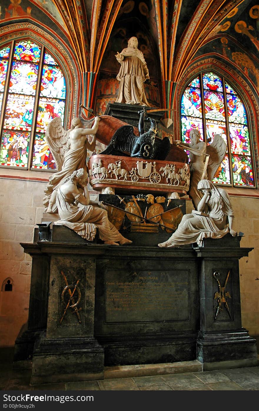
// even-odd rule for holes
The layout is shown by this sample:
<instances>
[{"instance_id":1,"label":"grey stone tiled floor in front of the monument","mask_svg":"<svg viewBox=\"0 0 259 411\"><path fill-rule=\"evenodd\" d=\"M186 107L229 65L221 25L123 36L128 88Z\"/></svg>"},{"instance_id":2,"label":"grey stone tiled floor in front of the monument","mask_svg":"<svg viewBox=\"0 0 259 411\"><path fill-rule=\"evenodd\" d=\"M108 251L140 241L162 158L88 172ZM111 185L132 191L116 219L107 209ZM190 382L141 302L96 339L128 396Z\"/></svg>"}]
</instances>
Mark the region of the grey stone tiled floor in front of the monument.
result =
<instances>
[{"instance_id":1,"label":"grey stone tiled floor in front of the monument","mask_svg":"<svg viewBox=\"0 0 259 411\"><path fill-rule=\"evenodd\" d=\"M259 390L259 366L30 386L31 370L2 358L0 390Z\"/></svg>"}]
</instances>

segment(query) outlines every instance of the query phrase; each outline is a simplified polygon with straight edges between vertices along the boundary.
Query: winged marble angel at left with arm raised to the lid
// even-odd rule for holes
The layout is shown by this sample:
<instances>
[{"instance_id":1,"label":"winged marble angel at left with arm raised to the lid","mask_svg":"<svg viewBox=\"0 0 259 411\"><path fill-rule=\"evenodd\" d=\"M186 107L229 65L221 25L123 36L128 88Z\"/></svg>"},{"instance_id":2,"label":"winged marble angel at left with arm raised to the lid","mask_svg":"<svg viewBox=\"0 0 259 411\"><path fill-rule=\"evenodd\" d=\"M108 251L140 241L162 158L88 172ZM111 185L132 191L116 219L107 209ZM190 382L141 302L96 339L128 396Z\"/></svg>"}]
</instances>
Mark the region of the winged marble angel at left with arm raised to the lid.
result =
<instances>
[{"instance_id":1,"label":"winged marble angel at left with arm raised to the lid","mask_svg":"<svg viewBox=\"0 0 259 411\"><path fill-rule=\"evenodd\" d=\"M95 117L92 128L84 128L79 118L73 118L71 128L64 130L61 118L54 118L46 129L46 140L55 159L57 173L49 178L44 192L43 204L45 211L57 212L57 189L67 178L78 169L85 169L87 150L95 149L95 134L98 130L100 117ZM91 143L86 136L92 135Z\"/></svg>"}]
</instances>

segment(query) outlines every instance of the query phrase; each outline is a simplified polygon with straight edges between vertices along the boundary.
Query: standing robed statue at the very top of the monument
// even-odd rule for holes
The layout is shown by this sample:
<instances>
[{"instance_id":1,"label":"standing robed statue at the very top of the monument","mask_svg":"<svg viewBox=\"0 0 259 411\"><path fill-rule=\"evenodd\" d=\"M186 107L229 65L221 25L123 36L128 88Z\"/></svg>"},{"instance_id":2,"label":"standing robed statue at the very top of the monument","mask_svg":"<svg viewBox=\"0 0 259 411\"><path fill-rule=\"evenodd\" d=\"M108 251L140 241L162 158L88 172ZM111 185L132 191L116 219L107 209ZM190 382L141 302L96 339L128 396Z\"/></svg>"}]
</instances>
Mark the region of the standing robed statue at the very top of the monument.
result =
<instances>
[{"instance_id":1,"label":"standing robed statue at the very top of the monument","mask_svg":"<svg viewBox=\"0 0 259 411\"><path fill-rule=\"evenodd\" d=\"M149 79L148 67L138 49L137 38L131 37L128 46L115 57L121 65L117 75L120 86L116 102L149 106L144 90L144 81Z\"/></svg>"}]
</instances>

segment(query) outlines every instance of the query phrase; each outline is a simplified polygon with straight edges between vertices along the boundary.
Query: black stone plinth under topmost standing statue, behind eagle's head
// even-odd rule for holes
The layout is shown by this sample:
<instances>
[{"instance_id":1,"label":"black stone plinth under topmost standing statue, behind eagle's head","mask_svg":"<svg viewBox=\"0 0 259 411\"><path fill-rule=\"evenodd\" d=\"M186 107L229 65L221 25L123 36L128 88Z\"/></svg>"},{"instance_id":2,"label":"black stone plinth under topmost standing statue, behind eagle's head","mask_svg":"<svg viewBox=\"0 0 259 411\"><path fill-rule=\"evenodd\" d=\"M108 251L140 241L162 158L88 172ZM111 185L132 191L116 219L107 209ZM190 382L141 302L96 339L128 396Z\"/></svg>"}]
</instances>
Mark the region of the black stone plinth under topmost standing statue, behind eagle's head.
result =
<instances>
[{"instance_id":1,"label":"black stone plinth under topmost standing statue, behind eagle's head","mask_svg":"<svg viewBox=\"0 0 259 411\"><path fill-rule=\"evenodd\" d=\"M105 115L111 115L112 117L118 118L134 127L139 125L139 114L138 111L142 110L143 106L138 106L137 104L125 104L125 103L108 103L105 110ZM148 110L156 110L157 107L146 107L147 113L145 116L145 124L150 127L150 122L147 121L148 117L152 117L158 123L164 115L164 111L155 111L148 114Z\"/></svg>"}]
</instances>

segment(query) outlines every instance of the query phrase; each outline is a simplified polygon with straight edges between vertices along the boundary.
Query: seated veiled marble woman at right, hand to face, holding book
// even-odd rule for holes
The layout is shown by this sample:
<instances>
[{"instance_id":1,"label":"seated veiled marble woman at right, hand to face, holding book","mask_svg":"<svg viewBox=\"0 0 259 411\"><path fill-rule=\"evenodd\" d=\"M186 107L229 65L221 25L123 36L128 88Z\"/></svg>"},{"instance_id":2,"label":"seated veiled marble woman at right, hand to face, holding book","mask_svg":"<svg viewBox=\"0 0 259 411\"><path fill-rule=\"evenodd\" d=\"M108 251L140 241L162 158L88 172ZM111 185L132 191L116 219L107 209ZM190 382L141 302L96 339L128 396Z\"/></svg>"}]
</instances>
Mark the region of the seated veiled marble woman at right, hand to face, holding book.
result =
<instances>
[{"instance_id":1,"label":"seated veiled marble woman at right, hand to face, holding book","mask_svg":"<svg viewBox=\"0 0 259 411\"><path fill-rule=\"evenodd\" d=\"M202 199L197 211L184 215L177 230L167 241L158 244L159 247L179 247L193 242L201 247L204 238L221 238L227 233L236 236L232 228L234 213L229 195L209 180L198 182L198 190Z\"/></svg>"}]
</instances>

